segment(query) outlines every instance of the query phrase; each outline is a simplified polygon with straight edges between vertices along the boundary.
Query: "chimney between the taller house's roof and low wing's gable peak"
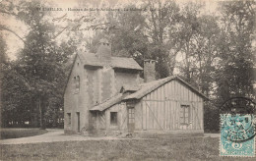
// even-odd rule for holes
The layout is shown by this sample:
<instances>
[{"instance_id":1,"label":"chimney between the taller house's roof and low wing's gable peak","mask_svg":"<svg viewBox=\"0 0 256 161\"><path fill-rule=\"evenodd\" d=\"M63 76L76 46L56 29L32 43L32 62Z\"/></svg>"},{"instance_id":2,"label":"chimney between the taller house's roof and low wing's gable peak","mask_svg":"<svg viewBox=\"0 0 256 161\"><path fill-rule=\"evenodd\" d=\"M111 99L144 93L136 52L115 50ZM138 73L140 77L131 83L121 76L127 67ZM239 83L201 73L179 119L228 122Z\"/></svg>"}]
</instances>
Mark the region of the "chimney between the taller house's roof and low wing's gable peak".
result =
<instances>
[{"instance_id":1,"label":"chimney between the taller house's roof and low wing's gable peak","mask_svg":"<svg viewBox=\"0 0 256 161\"><path fill-rule=\"evenodd\" d=\"M144 82L156 80L156 61L152 59L144 60Z\"/></svg>"}]
</instances>

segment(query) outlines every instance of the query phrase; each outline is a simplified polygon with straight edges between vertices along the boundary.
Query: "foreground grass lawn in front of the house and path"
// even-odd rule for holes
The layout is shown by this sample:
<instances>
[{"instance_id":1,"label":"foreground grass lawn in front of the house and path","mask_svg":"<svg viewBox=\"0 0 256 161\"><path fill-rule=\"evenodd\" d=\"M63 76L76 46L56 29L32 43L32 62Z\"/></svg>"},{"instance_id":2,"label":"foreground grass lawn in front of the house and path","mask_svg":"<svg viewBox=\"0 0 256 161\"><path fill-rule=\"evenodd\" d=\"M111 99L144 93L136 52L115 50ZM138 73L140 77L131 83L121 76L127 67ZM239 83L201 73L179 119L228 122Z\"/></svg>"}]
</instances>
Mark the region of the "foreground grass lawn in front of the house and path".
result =
<instances>
[{"instance_id":1,"label":"foreground grass lawn in front of the house and path","mask_svg":"<svg viewBox=\"0 0 256 161\"><path fill-rule=\"evenodd\" d=\"M240 160L220 157L219 138L86 140L1 145L0 160ZM242 158L255 160L255 158Z\"/></svg>"}]
</instances>

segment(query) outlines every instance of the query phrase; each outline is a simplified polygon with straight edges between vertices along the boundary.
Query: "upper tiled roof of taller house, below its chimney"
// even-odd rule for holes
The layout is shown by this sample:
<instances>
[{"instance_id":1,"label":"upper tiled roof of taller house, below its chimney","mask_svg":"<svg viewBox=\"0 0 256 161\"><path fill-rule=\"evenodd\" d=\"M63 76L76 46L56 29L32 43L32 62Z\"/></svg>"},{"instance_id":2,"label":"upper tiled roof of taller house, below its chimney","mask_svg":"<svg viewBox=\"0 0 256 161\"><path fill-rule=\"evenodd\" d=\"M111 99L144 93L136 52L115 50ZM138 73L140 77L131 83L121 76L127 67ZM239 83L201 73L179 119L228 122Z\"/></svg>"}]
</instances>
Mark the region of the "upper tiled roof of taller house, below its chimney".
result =
<instances>
[{"instance_id":1,"label":"upper tiled roof of taller house, below its chimney","mask_svg":"<svg viewBox=\"0 0 256 161\"><path fill-rule=\"evenodd\" d=\"M79 53L79 58L84 65L99 66L109 65L112 68L130 69L130 70L143 70L141 66L133 58L125 57L111 57L110 62L100 61L99 57L94 53Z\"/></svg>"}]
</instances>

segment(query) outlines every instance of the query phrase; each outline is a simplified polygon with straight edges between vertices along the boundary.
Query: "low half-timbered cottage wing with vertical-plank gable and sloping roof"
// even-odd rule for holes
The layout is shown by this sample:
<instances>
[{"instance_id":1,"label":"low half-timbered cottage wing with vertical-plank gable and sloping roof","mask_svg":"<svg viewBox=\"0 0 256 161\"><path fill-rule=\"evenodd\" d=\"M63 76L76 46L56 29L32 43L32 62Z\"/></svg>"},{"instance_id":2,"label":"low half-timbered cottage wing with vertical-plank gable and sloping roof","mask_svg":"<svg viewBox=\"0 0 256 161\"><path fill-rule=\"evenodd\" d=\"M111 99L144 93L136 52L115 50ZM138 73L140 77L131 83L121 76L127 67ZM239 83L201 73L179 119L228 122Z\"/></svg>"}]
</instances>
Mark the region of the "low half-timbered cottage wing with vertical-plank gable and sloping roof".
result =
<instances>
[{"instance_id":1,"label":"low half-timbered cottage wing with vertical-plank gable and sloping roof","mask_svg":"<svg viewBox=\"0 0 256 161\"><path fill-rule=\"evenodd\" d=\"M178 77L123 87L93 107L96 129L103 131L164 131L204 133L202 93Z\"/></svg>"}]
</instances>

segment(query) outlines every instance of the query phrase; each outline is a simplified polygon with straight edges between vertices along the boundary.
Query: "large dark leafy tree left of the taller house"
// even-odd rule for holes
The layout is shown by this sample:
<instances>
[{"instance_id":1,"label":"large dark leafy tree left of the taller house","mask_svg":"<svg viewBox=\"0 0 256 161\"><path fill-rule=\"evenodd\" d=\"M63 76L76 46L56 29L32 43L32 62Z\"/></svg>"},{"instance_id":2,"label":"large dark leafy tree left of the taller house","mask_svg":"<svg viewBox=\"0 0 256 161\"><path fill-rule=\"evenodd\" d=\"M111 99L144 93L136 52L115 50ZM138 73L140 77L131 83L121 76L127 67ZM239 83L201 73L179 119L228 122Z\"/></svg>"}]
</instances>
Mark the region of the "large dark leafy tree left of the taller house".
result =
<instances>
[{"instance_id":1,"label":"large dark leafy tree left of the taller house","mask_svg":"<svg viewBox=\"0 0 256 161\"><path fill-rule=\"evenodd\" d=\"M44 129L48 111L63 115L60 109L67 80L65 69L69 68L68 59L76 47L72 43L56 44L52 39L54 26L47 23L45 13L36 9L38 6L43 6L41 1L21 1L19 5L16 17L30 28L30 32L18 60L13 63L12 72L4 74L9 81L9 85L4 83L4 101L5 107L15 114L10 118L20 117L21 123L30 121L34 126L39 118L39 126Z\"/></svg>"}]
</instances>

